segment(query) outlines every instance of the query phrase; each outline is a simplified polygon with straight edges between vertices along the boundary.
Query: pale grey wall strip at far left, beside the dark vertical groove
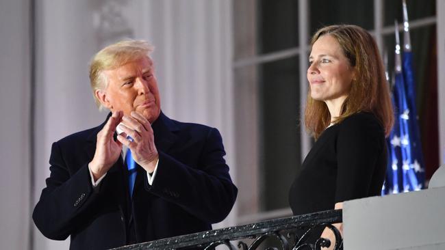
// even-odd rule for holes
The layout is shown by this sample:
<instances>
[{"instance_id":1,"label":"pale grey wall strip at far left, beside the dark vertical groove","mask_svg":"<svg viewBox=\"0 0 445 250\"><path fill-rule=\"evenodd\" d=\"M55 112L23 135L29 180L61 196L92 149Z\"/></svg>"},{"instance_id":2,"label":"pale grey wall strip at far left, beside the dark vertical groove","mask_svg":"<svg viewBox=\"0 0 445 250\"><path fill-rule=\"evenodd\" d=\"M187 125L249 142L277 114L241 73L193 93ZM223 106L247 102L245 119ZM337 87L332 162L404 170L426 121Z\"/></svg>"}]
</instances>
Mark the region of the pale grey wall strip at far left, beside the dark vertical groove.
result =
<instances>
[{"instance_id":1,"label":"pale grey wall strip at far left, beside the dark vertical groove","mask_svg":"<svg viewBox=\"0 0 445 250\"><path fill-rule=\"evenodd\" d=\"M30 1L0 3L0 249L29 244Z\"/></svg>"}]
</instances>

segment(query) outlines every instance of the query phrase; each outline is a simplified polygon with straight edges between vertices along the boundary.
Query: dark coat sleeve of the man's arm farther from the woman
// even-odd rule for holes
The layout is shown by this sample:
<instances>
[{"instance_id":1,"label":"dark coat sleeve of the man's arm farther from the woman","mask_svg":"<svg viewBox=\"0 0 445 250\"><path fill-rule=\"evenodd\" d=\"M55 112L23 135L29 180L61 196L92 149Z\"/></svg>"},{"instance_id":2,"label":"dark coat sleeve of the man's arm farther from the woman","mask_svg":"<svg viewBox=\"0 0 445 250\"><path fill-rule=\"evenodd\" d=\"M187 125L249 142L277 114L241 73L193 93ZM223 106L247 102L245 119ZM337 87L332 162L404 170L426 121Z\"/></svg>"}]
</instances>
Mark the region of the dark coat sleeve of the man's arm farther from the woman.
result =
<instances>
[{"instance_id":1,"label":"dark coat sleeve of the man's arm farther from the woman","mask_svg":"<svg viewBox=\"0 0 445 250\"><path fill-rule=\"evenodd\" d=\"M42 190L32 217L44 236L64 240L73 232L79 214L88 209L96 194L92 189L88 163L71 173L57 142L52 145L49 163L51 173L46 180L47 186Z\"/></svg>"}]
</instances>

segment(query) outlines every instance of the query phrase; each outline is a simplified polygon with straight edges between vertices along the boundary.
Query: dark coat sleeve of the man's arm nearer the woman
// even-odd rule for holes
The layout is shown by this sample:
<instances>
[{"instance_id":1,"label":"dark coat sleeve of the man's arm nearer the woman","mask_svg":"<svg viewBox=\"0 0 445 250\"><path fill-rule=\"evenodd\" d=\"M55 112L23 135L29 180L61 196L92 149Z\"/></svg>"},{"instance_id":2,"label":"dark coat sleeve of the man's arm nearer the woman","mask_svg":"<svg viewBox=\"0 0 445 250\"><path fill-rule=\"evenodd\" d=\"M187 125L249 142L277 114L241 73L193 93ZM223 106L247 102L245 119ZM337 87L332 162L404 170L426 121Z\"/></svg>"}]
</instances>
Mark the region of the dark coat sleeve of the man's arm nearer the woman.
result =
<instances>
[{"instance_id":1,"label":"dark coat sleeve of the man's arm nearer the woman","mask_svg":"<svg viewBox=\"0 0 445 250\"><path fill-rule=\"evenodd\" d=\"M181 206L207 222L223 221L235 203L238 189L229 176L220 133L209 129L196 166L177 161L159 152L160 160L153 185L147 191Z\"/></svg>"}]
</instances>

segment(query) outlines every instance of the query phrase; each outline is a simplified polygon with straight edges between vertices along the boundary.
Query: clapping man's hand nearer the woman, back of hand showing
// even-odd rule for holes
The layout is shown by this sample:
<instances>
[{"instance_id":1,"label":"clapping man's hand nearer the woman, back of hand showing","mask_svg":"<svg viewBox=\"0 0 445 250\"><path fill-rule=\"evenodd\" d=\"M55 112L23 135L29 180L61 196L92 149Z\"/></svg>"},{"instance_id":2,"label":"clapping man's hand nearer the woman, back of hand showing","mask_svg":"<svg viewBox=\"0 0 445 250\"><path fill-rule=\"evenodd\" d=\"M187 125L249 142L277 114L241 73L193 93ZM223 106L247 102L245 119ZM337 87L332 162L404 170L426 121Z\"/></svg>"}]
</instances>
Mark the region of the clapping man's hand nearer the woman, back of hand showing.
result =
<instances>
[{"instance_id":1,"label":"clapping man's hand nearer the woman, back of hand showing","mask_svg":"<svg viewBox=\"0 0 445 250\"><path fill-rule=\"evenodd\" d=\"M147 172L153 173L159 154L157 154L150 122L136 111L132 111L130 117L124 115L122 120L125 126L120 125L120 128L133 141L124 135L118 135L117 139L131 150L131 156L136 163Z\"/></svg>"}]
</instances>

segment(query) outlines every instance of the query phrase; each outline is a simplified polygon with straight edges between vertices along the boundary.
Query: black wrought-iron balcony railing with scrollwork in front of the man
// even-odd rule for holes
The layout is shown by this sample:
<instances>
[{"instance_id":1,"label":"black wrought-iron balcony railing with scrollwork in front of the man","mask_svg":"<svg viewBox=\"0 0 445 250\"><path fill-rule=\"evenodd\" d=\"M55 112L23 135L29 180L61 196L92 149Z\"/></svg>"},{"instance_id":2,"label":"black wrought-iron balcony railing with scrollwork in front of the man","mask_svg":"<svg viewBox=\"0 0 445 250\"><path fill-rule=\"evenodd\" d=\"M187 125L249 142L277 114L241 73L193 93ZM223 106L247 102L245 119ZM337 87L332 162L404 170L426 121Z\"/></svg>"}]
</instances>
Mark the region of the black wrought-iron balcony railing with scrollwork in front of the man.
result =
<instances>
[{"instance_id":1,"label":"black wrought-iron balcony railing with scrollwork in front of the man","mask_svg":"<svg viewBox=\"0 0 445 250\"><path fill-rule=\"evenodd\" d=\"M331 225L340 222L342 222L342 210L328 210L164 238L116 249L214 249L219 245L223 245L230 250L320 249L331 245L328 239L320 238L320 233L325 227L333 231L335 236L334 249L343 249L340 232Z\"/></svg>"}]
</instances>

